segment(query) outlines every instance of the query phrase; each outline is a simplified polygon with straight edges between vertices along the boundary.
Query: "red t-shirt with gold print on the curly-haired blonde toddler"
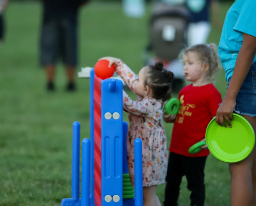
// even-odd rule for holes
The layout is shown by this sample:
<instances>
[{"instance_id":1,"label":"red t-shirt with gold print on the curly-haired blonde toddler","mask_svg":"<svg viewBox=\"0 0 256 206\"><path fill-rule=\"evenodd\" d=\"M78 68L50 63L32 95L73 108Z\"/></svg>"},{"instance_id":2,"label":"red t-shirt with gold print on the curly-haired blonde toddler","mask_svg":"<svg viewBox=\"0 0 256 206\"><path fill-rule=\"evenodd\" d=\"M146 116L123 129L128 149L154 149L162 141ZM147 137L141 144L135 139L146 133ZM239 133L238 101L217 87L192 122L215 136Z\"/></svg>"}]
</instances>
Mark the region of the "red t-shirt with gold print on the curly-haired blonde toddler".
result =
<instances>
[{"instance_id":1,"label":"red t-shirt with gold print on the curly-haired blonde toddler","mask_svg":"<svg viewBox=\"0 0 256 206\"><path fill-rule=\"evenodd\" d=\"M169 150L187 157L203 157L209 150L191 155L188 149L205 138L209 122L216 116L221 95L213 84L193 87L192 84L179 92L180 108L174 123Z\"/></svg>"}]
</instances>

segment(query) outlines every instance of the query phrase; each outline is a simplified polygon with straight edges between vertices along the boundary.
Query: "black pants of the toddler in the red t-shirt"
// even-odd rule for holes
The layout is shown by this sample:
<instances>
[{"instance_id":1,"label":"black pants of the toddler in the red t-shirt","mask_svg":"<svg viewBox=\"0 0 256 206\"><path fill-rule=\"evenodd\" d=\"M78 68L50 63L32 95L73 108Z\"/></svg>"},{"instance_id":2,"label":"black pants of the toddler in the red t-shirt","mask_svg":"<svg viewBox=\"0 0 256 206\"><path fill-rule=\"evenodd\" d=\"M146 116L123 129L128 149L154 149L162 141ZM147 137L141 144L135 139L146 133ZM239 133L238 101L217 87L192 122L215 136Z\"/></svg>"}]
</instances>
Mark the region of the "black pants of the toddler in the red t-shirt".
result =
<instances>
[{"instance_id":1,"label":"black pants of the toddler in the red t-shirt","mask_svg":"<svg viewBox=\"0 0 256 206\"><path fill-rule=\"evenodd\" d=\"M188 190L191 191L191 206L203 206L205 200L204 167L207 156L186 157L174 152L170 152L164 206L177 206L179 196L179 185L182 177L186 176Z\"/></svg>"}]
</instances>

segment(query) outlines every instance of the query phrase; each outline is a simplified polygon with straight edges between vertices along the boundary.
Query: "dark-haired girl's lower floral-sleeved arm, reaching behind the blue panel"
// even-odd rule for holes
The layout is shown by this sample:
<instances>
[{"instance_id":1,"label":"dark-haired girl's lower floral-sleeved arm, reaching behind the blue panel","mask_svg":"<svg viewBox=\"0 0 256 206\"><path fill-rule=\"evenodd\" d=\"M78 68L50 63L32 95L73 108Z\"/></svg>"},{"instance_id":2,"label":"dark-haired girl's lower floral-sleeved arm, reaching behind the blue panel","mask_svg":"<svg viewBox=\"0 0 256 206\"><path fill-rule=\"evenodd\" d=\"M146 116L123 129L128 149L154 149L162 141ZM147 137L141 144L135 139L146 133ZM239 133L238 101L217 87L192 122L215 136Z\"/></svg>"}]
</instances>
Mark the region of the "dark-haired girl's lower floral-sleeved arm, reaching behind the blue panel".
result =
<instances>
[{"instance_id":1,"label":"dark-haired girl's lower floral-sleeved arm, reaching behind the blue panel","mask_svg":"<svg viewBox=\"0 0 256 206\"><path fill-rule=\"evenodd\" d=\"M133 101L123 90L123 108L124 111L140 116L147 116L153 109L149 101Z\"/></svg>"}]
</instances>

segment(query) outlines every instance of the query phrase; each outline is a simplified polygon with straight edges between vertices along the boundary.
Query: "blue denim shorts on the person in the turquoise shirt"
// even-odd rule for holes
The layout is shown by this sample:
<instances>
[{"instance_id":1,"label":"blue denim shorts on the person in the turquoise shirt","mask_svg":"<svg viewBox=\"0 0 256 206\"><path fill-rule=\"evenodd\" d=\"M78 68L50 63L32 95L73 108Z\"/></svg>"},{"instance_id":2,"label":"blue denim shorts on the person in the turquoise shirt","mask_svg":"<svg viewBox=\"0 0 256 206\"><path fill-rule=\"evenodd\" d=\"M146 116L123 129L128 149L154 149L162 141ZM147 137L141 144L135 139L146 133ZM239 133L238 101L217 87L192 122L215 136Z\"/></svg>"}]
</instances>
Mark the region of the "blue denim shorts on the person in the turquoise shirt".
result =
<instances>
[{"instance_id":1,"label":"blue denim shorts on the person in the turquoise shirt","mask_svg":"<svg viewBox=\"0 0 256 206\"><path fill-rule=\"evenodd\" d=\"M229 78L228 86L231 77ZM240 115L256 116L256 63L251 68L237 96L234 111Z\"/></svg>"}]
</instances>

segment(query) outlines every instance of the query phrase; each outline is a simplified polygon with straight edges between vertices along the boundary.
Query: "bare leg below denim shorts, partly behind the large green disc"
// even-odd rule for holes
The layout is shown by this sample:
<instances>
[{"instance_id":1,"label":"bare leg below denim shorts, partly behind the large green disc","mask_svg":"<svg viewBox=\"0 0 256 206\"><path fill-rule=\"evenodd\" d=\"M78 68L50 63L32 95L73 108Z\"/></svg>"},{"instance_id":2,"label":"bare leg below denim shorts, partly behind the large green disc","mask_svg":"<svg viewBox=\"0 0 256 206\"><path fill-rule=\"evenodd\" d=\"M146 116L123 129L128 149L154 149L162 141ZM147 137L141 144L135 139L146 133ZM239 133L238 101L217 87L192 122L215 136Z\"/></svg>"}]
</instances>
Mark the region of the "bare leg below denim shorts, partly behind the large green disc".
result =
<instances>
[{"instance_id":1,"label":"bare leg below denim shorts, partly behind the large green disc","mask_svg":"<svg viewBox=\"0 0 256 206\"><path fill-rule=\"evenodd\" d=\"M256 117L243 115L256 131ZM238 163L230 163L231 174L230 204L231 206L251 206L253 203L253 185L256 186L256 178L252 174L256 173L253 168L254 149L250 156ZM256 159L255 159L256 160ZM256 165L254 164L254 167ZM254 180L254 181L253 181ZM255 182L255 183L254 183ZM254 187L256 190L256 187Z\"/></svg>"}]
</instances>

